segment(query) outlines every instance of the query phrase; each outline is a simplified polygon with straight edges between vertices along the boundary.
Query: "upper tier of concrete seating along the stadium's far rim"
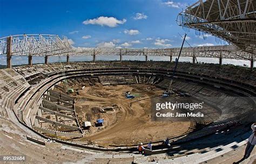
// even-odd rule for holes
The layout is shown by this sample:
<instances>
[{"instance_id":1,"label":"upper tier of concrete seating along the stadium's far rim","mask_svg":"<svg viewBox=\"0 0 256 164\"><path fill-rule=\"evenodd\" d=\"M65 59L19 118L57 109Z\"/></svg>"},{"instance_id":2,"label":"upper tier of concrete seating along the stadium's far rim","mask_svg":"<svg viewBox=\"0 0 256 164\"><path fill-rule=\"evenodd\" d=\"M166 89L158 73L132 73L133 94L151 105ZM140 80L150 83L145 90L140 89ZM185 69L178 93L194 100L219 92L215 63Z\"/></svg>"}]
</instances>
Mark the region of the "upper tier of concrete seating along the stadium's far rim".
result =
<instances>
[{"instance_id":1,"label":"upper tier of concrete seating along the stadium's far rim","mask_svg":"<svg viewBox=\"0 0 256 164\"><path fill-rule=\"evenodd\" d=\"M32 67L23 66L16 67L15 70L23 75L29 77L38 73L45 75L52 75L57 72L65 70L77 69L92 69L92 68L166 68L173 69L174 63L170 62L139 62L139 61L123 61L123 62L72 62L66 63L50 63L48 65L33 65ZM250 72L248 68L221 66L215 64L191 64L189 62L180 62L177 67L177 72L188 72L190 74L205 75L208 77L226 79L231 81L240 81L251 85L256 84L255 72Z\"/></svg>"}]
</instances>

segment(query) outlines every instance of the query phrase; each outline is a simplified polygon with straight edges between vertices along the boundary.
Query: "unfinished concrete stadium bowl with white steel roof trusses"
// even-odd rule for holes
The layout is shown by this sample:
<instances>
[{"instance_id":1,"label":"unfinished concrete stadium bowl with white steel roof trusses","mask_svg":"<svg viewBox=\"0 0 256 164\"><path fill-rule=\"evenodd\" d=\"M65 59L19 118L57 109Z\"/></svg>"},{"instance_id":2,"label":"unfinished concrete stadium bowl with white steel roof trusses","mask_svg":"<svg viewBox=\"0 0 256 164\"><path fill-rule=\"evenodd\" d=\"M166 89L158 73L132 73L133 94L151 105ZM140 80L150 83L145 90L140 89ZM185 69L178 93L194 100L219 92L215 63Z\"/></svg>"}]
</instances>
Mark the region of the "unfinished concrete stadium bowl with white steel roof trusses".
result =
<instances>
[{"instance_id":1,"label":"unfinished concrete stadium bowl with white steel roof trusses","mask_svg":"<svg viewBox=\"0 0 256 164\"><path fill-rule=\"evenodd\" d=\"M82 48L50 34L0 38L0 54L6 56L6 68L0 69L0 154L24 155L28 163L239 161L255 122L255 8L251 0L200 0L178 14L181 27L230 45ZM28 65L12 67L12 56L28 56ZM33 64L35 56L45 62ZM52 56L65 56L66 61L50 63ZM72 62L71 56L92 60ZM97 61L98 56L119 60ZM144 56L145 61L123 56ZM152 61L149 56L170 60ZM191 62L178 62L178 56ZM219 62L199 63L197 58ZM224 59L251 65L223 65ZM156 102L177 97L203 102L201 112L207 118L153 120ZM163 146L166 138L169 143ZM150 141L152 149L138 154L140 142L146 147ZM241 163L255 160L254 149Z\"/></svg>"}]
</instances>

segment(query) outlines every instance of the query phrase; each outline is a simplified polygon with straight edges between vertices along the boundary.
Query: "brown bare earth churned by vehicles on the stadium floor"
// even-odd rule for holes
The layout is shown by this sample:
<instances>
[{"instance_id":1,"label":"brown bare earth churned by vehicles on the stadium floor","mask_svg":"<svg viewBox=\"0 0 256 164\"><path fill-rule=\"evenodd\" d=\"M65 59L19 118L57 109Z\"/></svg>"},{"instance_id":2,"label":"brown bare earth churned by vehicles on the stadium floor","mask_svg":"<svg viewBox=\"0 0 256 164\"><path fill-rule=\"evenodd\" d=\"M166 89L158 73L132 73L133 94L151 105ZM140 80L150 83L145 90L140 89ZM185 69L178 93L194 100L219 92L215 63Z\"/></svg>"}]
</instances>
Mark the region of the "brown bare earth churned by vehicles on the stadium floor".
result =
<instances>
[{"instance_id":1,"label":"brown bare earth churned by vehicles on the stadium floor","mask_svg":"<svg viewBox=\"0 0 256 164\"><path fill-rule=\"evenodd\" d=\"M124 92L131 91L134 99L126 99ZM80 123L97 118L104 119L104 127L85 130L80 141L92 141L102 146L130 145L139 142L163 140L187 132L190 122L151 122L151 98L163 90L147 84L102 86L97 83L79 90L76 111ZM116 106L114 112L100 112L99 107Z\"/></svg>"}]
</instances>

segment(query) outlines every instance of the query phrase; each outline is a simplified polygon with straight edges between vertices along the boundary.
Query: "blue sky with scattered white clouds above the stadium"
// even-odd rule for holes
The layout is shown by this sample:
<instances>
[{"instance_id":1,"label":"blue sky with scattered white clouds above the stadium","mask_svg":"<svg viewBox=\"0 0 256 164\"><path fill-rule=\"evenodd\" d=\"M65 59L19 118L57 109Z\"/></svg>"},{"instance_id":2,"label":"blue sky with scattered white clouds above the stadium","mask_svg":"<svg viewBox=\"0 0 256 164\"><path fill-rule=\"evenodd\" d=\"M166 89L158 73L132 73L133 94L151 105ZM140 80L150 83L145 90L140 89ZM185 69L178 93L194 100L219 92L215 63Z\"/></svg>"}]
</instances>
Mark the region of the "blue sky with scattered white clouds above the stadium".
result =
<instances>
[{"instance_id":1,"label":"blue sky with scattered white clouds above the stadium","mask_svg":"<svg viewBox=\"0 0 256 164\"><path fill-rule=\"evenodd\" d=\"M180 47L185 30L177 25L176 18L194 2L196 0L0 0L0 38L24 33L57 34L68 37L75 47ZM194 30L188 32L186 41L185 47L227 44ZM52 57L51 60L64 58ZM12 62L27 63L27 59L15 57ZM42 59L33 62L42 62ZM0 64L5 64L4 56L0 57Z\"/></svg>"}]
</instances>

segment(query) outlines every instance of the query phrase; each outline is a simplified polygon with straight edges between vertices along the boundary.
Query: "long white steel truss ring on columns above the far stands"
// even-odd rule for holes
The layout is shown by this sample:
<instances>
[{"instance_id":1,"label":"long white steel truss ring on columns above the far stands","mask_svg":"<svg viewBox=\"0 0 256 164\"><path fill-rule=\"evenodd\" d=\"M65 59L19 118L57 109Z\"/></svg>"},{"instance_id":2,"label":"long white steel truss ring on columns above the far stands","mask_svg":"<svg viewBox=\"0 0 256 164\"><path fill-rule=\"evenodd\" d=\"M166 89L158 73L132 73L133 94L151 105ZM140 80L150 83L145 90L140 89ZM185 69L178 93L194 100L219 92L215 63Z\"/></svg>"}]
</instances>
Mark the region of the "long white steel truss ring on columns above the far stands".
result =
<instances>
[{"instance_id":1,"label":"long white steel truss ring on columns above the far stands","mask_svg":"<svg viewBox=\"0 0 256 164\"><path fill-rule=\"evenodd\" d=\"M213 23L214 25L214 23ZM196 26L196 25L195 25ZM195 27L192 26L192 27ZM204 28L207 26L204 25ZM207 30L207 29L206 29ZM205 31L206 31L205 30ZM215 34L218 30L212 30ZM223 32L223 31L221 31ZM226 32L223 32L226 34ZM230 35L235 35L237 32L229 32ZM238 33L239 34L239 33ZM244 34L245 35L245 34ZM251 33L246 34L250 37ZM68 39L64 37L60 39L58 35L14 35L11 36L11 55L24 56L84 56L84 55L141 55L141 56L178 56L180 48L81 48L73 47L69 44ZM233 37L239 39L239 35ZM0 39L0 54L6 54L7 37ZM247 40L245 37L244 40ZM241 40L243 41L243 40ZM255 40L254 40L255 41ZM248 42L248 40L247 40ZM242 43L242 42L241 42ZM255 55L250 52L242 51L240 47L235 45L227 46L204 46L204 47L185 47L181 53L183 57L199 57L199 58L219 58L223 59L243 59L256 60Z\"/></svg>"}]
</instances>

